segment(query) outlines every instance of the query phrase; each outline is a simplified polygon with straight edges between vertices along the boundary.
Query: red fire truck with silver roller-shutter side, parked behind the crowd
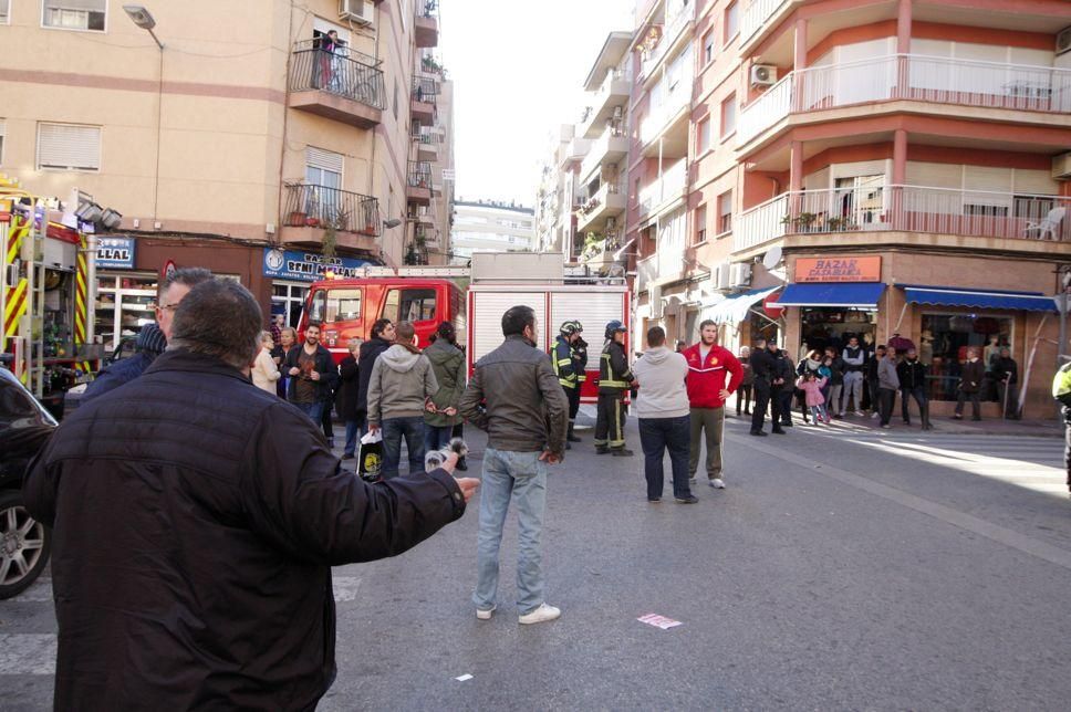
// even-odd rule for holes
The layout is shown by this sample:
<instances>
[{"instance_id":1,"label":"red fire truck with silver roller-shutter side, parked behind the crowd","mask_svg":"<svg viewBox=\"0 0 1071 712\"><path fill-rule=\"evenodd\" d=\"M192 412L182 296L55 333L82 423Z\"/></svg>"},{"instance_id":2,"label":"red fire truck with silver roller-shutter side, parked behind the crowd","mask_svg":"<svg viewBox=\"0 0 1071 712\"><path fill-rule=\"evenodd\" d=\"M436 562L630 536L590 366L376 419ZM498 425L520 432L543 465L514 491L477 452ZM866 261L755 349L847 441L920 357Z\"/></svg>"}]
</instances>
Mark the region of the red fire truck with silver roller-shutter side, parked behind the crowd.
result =
<instances>
[{"instance_id":1,"label":"red fire truck with silver roller-shutter side, parked behind the crowd","mask_svg":"<svg viewBox=\"0 0 1071 712\"><path fill-rule=\"evenodd\" d=\"M327 279L309 290L299 324L321 324L321 341L339 363L351 338L367 339L378 318L410 322L419 347L443 322L450 322L466 346L469 374L476 362L502 343L502 314L523 304L536 312L537 347L547 352L562 322L586 329L588 379L584 402L597 399L595 381L603 329L617 320L630 324L631 293L624 276L602 278L564 264L561 253L477 252L466 266L366 266L353 279ZM631 334L630 334L631 337ZM627 348L627 345L626 345Z\"/></svg>"}]
</instances>

